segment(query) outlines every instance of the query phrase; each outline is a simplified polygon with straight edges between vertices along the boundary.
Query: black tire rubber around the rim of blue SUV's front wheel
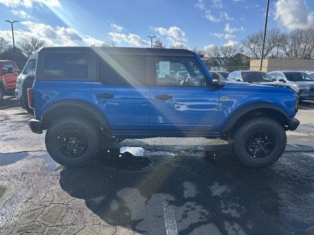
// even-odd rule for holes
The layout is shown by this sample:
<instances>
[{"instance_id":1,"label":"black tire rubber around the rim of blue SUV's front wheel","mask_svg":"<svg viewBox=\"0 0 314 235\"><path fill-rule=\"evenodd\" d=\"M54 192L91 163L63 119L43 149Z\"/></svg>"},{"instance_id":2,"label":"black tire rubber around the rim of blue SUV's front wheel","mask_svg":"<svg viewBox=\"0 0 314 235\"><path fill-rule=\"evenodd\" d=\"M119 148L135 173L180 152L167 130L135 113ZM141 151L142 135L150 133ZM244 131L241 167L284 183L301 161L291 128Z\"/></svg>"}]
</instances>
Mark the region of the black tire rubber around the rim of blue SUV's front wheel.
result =
<instances>
[{"instance_id":1,"label":"black tire rubber around the rim of blue SUV's front wheel","mask_svg":"<svg viewBox=\"0 0 314 235\"><path fill-rule=\"evenodd\" d=\"M252 157L245 147L245 142L254 131L266 130L275 139L273 150L263 158ZM272 118L254 118L242 124L230 135L229 144L235 159L242 165L254 168L265 167L278 161L285 151L287 135L284 127Z\"/></svg>"}]
</instances>

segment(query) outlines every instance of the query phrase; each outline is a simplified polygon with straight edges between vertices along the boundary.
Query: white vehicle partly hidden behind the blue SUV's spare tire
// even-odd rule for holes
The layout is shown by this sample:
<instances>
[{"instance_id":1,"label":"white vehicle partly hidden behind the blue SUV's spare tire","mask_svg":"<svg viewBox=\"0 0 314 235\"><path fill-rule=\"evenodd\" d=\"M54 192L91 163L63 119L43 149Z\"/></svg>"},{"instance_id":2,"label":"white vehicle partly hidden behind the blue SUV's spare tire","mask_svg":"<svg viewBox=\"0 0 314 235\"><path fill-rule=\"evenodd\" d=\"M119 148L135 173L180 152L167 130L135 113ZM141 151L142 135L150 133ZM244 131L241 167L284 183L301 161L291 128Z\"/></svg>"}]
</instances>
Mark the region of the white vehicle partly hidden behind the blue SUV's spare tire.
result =
<instances>
[{"instance_id":1,"label":"white vehicle partly hidden behind the blue SUV's spare tire","mask_svg":"<svg viewBox=\"0 0 314 235\"><path fill-rule=\"evenodd\" d=\"M18 100L20 100L22 107L30 113L32 113L32 110L28 107L27 89L32 86L32 82L29 82L29 81L24 82L24 80L28 73L36 70L37 55L38 55L38 51L35 51L29 57L22 73L18 76L16 80L15 96ZM24 89L23 89L23 84L25 84Z\"/></svg>"}]
</instances>

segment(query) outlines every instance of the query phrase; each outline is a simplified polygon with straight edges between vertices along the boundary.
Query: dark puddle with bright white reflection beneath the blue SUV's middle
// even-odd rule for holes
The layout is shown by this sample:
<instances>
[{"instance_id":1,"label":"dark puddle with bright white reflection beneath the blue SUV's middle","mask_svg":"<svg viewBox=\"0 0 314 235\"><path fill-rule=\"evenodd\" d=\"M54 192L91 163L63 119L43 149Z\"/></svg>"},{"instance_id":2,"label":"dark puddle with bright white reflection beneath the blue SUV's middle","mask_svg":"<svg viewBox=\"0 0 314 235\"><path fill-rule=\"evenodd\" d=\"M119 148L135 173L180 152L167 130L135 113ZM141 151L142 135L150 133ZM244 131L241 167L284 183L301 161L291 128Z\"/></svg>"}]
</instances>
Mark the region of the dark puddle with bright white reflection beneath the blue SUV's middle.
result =
<instances>
[{"instance_id":1,"label":"dark puddle with bright white reflection beneath the blue SUV's middle","mask_svg":"<svg viewBox=\"0 0 314 235\"><path fill-rule=\"evenodd\" d=\"M96 163L117 169L140 170L151 163L151 160L143 156L144 151L142 147L109 148L101 154Z\"/></svg>"}]
</instances>

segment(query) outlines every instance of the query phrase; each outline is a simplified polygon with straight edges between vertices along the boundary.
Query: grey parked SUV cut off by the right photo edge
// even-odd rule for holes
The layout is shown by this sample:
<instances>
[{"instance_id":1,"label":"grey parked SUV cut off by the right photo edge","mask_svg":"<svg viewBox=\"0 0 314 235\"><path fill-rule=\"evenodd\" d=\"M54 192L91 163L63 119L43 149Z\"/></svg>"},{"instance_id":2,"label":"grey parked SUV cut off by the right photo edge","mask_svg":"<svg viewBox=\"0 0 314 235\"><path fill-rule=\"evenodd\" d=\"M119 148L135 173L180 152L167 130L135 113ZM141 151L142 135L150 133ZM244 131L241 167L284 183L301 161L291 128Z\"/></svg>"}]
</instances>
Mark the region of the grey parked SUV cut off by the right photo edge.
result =
<instances>
[{"instance_id":1,"label":"grey parked SUV cut off by the right photo edge","mask_svg":"<svg viewBox=\"0 0 314 235\"><path fill-rule=\"evenodd\" d=\"M314 99L314 77L300 71L271 71L269 76L282 85L297 90L300 100Z\"/></svg>"}]
</instances>

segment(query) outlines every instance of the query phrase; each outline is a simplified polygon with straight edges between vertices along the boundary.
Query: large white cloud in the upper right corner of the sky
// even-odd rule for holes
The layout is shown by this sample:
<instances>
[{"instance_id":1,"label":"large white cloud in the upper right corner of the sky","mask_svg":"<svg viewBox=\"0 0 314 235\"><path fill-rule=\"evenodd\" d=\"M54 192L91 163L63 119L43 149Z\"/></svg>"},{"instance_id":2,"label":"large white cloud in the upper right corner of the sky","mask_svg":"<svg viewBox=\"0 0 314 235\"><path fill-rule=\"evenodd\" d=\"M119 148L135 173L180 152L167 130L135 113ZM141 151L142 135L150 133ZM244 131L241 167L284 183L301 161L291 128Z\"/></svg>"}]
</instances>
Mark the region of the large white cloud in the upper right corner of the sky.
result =
<instances>
[{"instance_id":1,"label":"large white cloud in the upper right corner of the sky","mask_svg":"<svg viewBox=\"0 0 314 235\"><path fill-rule=\"evenodd\" d=\"M275 3L275 20L289 30L314 27L314 13L301 0L278 0Z\"/></svg>"}]
</instances>

